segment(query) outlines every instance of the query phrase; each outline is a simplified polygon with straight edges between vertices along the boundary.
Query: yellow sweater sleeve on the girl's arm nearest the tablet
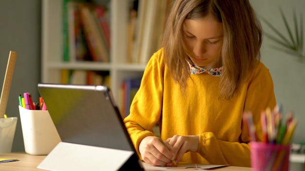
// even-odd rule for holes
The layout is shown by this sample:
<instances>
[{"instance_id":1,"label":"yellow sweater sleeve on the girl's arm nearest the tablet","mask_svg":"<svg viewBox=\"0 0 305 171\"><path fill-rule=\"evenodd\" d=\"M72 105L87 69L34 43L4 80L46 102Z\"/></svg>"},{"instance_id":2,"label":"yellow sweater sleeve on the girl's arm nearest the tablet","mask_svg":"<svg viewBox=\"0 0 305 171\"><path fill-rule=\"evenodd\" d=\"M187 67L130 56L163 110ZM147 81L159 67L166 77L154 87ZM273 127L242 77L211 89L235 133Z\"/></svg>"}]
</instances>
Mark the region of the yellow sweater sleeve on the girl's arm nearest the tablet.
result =
<instances>
[{"instance_id":1,"label":"yellow sweater sleeve on the girl's arm nearest the tablet","mask_svg":"<svg viewBox=\"0 0 305 171\"><path fill-rule=\"evenodd\" d=\"M163 94L163 62L156 58L162 51L154 54L144 71L141 85L133 98L130 115L125 119L126 128L131 135L133 145L141 158L138 146L147 136L155 136L152 128L159 122Z\"/></svg>"}]
</instances>

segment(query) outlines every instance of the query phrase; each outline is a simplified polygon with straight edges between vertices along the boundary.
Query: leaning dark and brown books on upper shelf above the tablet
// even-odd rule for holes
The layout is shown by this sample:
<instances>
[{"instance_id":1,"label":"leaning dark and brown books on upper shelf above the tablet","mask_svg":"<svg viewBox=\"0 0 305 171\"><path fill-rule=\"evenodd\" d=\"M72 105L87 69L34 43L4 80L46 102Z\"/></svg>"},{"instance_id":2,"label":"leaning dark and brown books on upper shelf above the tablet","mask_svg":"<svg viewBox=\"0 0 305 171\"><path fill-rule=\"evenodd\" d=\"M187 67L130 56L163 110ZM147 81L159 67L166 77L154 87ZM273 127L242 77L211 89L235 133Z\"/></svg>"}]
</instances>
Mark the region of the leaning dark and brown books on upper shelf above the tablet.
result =
<instances>
[{"instance_id":1,"label":"leaning dark and brown books on upper shelf above the tablet","mask_svg":"<svg viewBox=\"0 0 305 171\"><path fill-rule=\"evenodd\" d=\"M65 0L63 60L110 61L110 29L106 7Z\"/></svg>"}]
</instances>

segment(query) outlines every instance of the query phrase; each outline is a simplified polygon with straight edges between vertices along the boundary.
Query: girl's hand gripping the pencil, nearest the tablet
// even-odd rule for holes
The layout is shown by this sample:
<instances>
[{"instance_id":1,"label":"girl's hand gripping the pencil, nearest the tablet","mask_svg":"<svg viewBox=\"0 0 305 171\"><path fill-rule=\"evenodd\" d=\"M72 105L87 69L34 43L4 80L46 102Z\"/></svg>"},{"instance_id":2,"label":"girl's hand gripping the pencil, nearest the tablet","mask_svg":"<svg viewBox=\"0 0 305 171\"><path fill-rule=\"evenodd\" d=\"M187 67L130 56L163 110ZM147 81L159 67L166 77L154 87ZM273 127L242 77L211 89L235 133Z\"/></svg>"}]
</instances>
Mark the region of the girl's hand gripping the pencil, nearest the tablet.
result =
<instances>
[{"instance_id":1,"label":"girl's hand gripping the pencil, nearest the tablet","mask_svg":"<svg viewBox=\"0 0 305 171\"><path fill-rule=\"evenodd\" d=\"M169 166L175 158L173 148L166 141L163 144L160 140L154 136L145 137L139 145L139 152L142 159L152 166Z\"/></svg>"}]
</instances>

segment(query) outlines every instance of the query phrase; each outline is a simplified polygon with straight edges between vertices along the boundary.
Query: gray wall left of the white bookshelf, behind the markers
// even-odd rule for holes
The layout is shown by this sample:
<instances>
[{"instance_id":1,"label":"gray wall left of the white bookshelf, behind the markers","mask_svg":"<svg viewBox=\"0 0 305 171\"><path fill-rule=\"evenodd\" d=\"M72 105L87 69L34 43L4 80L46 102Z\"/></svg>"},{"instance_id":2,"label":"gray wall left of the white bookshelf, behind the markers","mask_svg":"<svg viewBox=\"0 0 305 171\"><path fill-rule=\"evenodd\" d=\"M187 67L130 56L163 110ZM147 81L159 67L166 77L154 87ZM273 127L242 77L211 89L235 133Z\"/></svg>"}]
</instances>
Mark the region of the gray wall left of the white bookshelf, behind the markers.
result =
<instances>
[{"instance_id":1,"label":"gray wall left of the white bookshelf, behind the markers","mask_svg":"<svg viewBox=\"0 0 305 171\"><path fill-rule=\"evenodd\" d=\"M30 92L38 102L40 80L41 0L0 0L0 87L10 51L17 51L6 114L19 117L18 96ZM24 151L20 120L12 151Z\"/></svg>"}]
</instances>

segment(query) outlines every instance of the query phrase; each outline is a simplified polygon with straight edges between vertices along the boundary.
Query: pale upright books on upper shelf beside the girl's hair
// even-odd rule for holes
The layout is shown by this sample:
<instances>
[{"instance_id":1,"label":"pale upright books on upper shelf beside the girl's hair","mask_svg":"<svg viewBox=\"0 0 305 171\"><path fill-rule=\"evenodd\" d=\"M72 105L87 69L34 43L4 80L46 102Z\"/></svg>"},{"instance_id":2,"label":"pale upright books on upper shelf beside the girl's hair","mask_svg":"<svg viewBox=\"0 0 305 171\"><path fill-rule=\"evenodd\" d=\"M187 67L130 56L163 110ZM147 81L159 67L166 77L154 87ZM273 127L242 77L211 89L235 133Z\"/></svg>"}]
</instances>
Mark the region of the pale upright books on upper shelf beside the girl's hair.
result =
<instances>
[{"instance_id":1,"label":"pale upright books on upper shelf beside the girl's hair","mask_svg":"<svg viewBox=\"0 0 305 171\"><path fill-rule=\"evenodd\" d=\"M161 39L173 0L133 0L130 8L129 63L147 64L161 48Z\"/></svg>"}]
</instances>

